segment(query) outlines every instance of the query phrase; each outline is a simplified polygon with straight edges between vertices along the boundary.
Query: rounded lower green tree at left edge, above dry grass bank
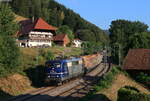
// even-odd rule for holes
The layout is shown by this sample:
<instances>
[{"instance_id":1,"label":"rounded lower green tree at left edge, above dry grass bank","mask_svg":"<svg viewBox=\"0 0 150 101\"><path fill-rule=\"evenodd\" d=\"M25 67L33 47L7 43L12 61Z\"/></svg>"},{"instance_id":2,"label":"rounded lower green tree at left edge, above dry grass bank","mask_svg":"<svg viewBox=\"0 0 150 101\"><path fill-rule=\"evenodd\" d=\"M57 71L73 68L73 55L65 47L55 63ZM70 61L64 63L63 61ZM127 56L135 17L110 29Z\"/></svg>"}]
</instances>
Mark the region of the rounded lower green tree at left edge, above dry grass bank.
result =
<instances>
[{"instance_id":1,"label":"rounded lower green tree at left edge, above dry grass bank","mask_svg":"<svg viewBox=\"0 0 150 101\"><path fill-rule=\"evenodd\" d=\"M19 66L19 49L13 38L0 35L0 75L16 71ZM5 74L7 75L7 74Z\"/></svg>"}]
</instances>

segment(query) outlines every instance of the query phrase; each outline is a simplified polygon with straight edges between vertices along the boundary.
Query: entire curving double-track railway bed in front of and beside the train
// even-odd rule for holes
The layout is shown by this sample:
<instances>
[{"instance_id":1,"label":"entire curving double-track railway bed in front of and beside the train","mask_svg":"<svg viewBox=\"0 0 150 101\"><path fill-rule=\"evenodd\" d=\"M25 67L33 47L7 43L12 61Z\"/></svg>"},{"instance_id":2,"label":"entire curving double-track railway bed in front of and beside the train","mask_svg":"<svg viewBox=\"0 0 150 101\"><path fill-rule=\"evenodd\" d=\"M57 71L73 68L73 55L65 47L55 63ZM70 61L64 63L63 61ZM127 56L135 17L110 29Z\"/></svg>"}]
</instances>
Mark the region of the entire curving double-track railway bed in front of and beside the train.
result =
<instances>
[{"instance_id":1,"label":"entire curving double-track railway bed in front of and beside the train","mask_svg":"<svg viewBox=\"0 0 150 101\"><path fill-rule=\"evenodd\" d=\"M63 101L64 99L66 101L75 96L79 97L81 96L79 92L82 91L83 95L85 95L108 69L107 66L105 68L103 64L100 64L82 79L78 78L58 87L39 88L29 94L21 95L8 101Z\"/></svg>"}]
</instances>

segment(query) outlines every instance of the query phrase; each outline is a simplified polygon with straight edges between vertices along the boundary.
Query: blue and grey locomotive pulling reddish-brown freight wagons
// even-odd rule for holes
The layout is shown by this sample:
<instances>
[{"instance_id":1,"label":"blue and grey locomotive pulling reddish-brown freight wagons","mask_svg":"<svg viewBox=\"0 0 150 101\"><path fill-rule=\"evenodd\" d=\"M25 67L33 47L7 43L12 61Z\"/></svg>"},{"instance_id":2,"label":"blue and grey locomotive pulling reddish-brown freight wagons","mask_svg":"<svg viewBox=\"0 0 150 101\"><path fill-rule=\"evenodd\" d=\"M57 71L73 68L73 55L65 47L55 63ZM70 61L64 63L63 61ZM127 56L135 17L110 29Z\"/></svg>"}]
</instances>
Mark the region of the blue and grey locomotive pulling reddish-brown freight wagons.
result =
<instances>
[{"instance_id":1,"label":"blue and grey locomotive pulling reddish-brown freight wagons","mask_svg":"<svg viewBox=\"0 0 150 101\"><path fill-rule=\"evenodd\" d=\"M46 61L45 82L61 85L64 81L86 74L101 61L101 54Z\"/></svg>"}]
</instances>

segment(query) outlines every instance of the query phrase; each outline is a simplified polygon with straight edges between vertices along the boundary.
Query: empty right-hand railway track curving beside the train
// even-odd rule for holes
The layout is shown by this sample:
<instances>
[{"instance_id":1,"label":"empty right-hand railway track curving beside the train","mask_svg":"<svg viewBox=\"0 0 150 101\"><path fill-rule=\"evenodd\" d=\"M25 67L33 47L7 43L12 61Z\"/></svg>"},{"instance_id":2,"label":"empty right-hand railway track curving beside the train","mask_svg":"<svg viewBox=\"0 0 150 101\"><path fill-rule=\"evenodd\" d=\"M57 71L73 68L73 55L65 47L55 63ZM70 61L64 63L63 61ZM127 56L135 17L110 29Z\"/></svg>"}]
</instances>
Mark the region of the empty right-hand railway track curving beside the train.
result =
<instances>
[{"instance_id":1,"label":"empty right-hand railway track curving beside the train","mask_svg":"<svg viewBox=\"0 0 150 101\"><path fill-rule=\"evenodd\" d=\"M97 77L93 78L93 80L90 80L90 82L84 82L83 84L76 86L66 92L62 92L61 94L59 94L59 96L56 96L49 101L74 101L85 96L90 90L92 90L93 85L97 82L97 80L99 80L99 77L107 72L108 69L110 68L103 68L102 71L96 74Z\"/></svg>"}]
</instances>

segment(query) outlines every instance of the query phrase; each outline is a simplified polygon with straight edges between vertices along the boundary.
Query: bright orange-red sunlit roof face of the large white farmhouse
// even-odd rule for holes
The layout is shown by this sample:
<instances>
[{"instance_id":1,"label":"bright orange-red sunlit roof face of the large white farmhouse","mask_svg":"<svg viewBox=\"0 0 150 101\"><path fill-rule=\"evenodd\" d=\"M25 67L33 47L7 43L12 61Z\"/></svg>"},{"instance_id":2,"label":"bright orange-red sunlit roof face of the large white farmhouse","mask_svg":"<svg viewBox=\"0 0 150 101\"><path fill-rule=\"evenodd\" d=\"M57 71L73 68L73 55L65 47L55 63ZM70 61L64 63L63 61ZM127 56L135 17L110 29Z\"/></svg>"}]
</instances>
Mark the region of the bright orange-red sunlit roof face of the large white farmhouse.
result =
<instances>
[{"instance_id":1,"label":"bright orange-red sunlit roof face of the large white farmhouse","mask_svg":"<svg viewBox=\"0 0 150 101\"><path fill-rule=\"evenodd\" d=\"M57 28L49 25L42 18L39 18L35 23L34 29L56 30Z\"/></svg>"}]
</instances>

